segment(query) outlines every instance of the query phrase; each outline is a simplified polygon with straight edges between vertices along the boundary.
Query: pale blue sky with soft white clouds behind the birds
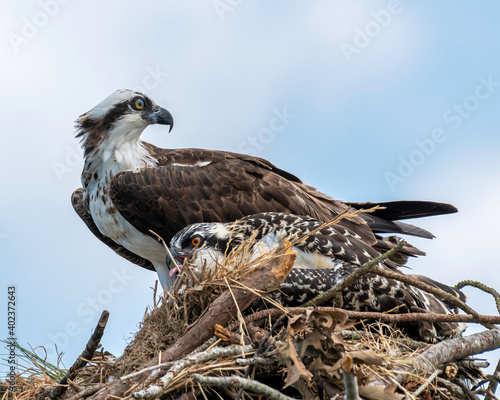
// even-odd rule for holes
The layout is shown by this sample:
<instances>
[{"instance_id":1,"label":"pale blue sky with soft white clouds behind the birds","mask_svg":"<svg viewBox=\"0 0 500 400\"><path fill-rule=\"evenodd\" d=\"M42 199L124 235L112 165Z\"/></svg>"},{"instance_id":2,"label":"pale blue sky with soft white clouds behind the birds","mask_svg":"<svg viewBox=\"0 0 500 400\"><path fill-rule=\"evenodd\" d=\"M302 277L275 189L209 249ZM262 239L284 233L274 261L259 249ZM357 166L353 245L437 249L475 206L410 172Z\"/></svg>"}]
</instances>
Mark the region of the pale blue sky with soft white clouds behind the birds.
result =
<instances>
[{"instance_id":1,"label":"pale blue sky with soft white clouds behind the birds","mask_svg":"<svg viewBox=\"0 0 500 400\"><path fill-rule=\"evenodd\" d=\"M172 112L171 134L144 134L157 146L253 152L343 200L456 205L419 221L437 238L411 240L428 253L413 271L500 289L500 3L65 2L0 4L0 286L17 286L21 344L71 365L108 309L119 355L152 303L155 275L70 203L74 120L119 88Z\"/></svg>"}]
</instances>

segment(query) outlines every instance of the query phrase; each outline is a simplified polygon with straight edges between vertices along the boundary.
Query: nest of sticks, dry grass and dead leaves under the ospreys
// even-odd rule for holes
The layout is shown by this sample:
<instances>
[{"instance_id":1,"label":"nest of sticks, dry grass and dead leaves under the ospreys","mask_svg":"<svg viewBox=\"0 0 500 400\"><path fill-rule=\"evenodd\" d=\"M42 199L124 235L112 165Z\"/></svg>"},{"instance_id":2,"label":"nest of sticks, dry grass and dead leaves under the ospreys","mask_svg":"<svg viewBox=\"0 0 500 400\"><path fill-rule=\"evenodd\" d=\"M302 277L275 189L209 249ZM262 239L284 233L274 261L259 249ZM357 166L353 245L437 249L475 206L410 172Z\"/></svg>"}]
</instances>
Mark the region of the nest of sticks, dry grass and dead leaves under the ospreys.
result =
<instances>
[{"instance_id":1,"label":"nest of sticks, dry grass and dead leaves under the ospreys","mask_svg":"<svg viewBox=\"0 0 500 400\"><path fill-rule=\"evenodd\" d=\"M287 276L294 260L284 243L259 259L243 247L225 260L228 268L207 279L184 268L166 297L156 301L155 289L154 305L122 356L96 350L107 320L102 317L86 348L90 356L84 352L67 373L55 375L37 360L18 376L15 396L427 400L478 398L487 392L491 376L480 371L484 361L454 359L452 353L450 361L426 367L446 342L408 339L397 325L373 322L362 313L277 304L268 292ZM496 329L483 335L500 346ZM454 339L461 340L467 338ZM453 352L449 347L446 351ZM476 354L490 349L483 344ZM2 398L14 396L4 391Z\"/></svg>"}]
</instances>

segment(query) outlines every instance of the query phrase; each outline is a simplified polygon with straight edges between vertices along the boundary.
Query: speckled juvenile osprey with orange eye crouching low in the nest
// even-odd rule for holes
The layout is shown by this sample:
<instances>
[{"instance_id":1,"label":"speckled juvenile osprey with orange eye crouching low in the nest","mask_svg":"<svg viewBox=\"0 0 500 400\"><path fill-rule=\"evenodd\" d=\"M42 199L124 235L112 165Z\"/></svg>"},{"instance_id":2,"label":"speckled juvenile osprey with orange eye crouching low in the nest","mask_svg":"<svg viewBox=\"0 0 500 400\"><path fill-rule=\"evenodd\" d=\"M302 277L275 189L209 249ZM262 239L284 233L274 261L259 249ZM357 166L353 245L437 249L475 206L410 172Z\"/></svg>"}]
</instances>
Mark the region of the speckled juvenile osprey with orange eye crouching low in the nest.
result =
<instances>
[{"instance_id":1,"label":"speckled juvenile osprey with orange eye crouching low in the nest","mask_svg":"<svg viewBox=\"0 0 500 400\"><path fill-rule=\"evenodd\" d=\"M224 274L228 268L240 264L238 257L243 254L248 262L291 238L297 252L296 265L274 295L285 305L299 305L380 255L348 228L323 225L314 218L283 213L250 215L232 223L198 223L178 232L172 238L170 251L180 262L179 269L189 263L195 275L204 278L219 269ZM250 247L246 252L237 252L243 243L246 246L250 243ZM231 265L227 265L225 258L229 255L232 255ZM394 262L387 259L379 266L397 270ZM424 276L413 277L464 299L463 293L451 287ZM342 298L344 308L357 311L408 313L418 307L438 314L451 312L447 304L432 294L375 274L362 276L343 291ZM410 336L431 342L458 336L465 329L462 323L414 322L402 327Z\"/></svg>"}]
</instances>

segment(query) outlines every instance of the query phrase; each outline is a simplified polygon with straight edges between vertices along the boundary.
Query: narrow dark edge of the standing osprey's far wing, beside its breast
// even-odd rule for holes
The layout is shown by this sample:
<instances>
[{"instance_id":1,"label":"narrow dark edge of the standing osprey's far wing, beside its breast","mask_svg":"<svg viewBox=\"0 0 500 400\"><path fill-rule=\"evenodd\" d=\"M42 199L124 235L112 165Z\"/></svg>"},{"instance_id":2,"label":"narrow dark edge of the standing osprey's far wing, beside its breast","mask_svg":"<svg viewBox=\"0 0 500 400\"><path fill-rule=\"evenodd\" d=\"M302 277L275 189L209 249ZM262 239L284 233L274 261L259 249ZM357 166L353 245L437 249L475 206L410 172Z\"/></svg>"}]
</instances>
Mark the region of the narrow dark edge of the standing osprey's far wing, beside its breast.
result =
<instances>
[{"instance_id":1,"label":"narrow dark edge of the standing osprey's far wing, beside its breast","mask_svg":"<svg viewBox=\"0 0 500 400\"><path fill-rule=\"evenodd\" d=\"M71 195L71 203L73 204L73 208L75 209L76 213L80 216L80 218L85 222L85 225L90 229L90 231L104 244L106 244L108 247L113 249L118 255L122 256L123 258L127 259L128 261L139 265L140 267L149 269L151 271L154 271L153 264L151 264L148 260L139 257L137 254L134 254L130 251L128 251L125 247L120 246L110 238L104 236L97 226L94 223L94 220L92 219L92 216L87 212L87 208L85 207L84 204L84 199L83 199L83 188L76 189L73 194Z\"/></svg>"}]
</instances>

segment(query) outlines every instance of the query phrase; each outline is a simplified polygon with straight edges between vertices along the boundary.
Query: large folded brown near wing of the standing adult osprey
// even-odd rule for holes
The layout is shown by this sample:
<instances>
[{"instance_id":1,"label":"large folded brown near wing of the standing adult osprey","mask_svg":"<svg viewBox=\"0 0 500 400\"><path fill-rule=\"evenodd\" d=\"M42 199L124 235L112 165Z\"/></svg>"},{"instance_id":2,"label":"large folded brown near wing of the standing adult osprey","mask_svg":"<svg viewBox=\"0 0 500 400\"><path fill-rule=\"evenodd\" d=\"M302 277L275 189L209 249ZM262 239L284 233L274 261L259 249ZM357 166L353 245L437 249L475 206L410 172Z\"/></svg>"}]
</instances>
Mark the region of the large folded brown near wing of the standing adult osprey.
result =
<instances>
[{"instance_id":1,"label":"large folded brown near wing of the standing adult osprey","mask_svg":"<svg viewBox=\"0 0 500 400\"><path fill-rule=\"evenodd\" d=\"M231 222L266 211L329 221L348 209L260 158L146 146L161 166L117 174L110 195L135 228L143 233L151 229L167 243L177 231L197 222ZM200 166L203 162L209 164ZM341 224L367 243L376 242L362 218L345 219Z\"/></svg>"}]
</instances>

